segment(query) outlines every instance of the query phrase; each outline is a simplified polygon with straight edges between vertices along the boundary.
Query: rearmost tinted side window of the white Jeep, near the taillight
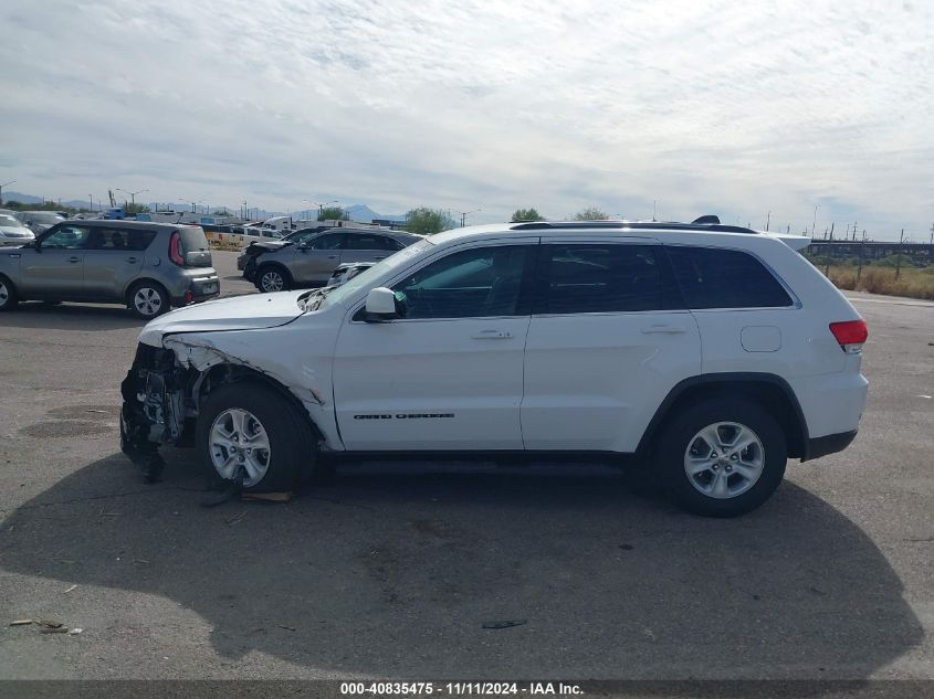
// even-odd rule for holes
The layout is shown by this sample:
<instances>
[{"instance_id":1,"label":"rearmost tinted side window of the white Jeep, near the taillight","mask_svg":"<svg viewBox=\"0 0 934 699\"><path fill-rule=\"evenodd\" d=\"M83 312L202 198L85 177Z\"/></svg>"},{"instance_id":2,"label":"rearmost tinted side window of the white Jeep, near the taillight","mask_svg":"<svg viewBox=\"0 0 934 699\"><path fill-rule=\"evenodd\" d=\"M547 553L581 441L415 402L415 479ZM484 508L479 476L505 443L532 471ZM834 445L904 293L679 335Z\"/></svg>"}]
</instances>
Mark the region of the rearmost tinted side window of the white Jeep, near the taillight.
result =
<instances>
[{"instance_id":1,"label":"rearmost tinted side window of the white Jeep, near the taillight","mask_svg":"<svg viewBox=\"0 0 934 699\"><path fill-rule=\"evenodd\" d=\"M781 308L794 301L758 260L737 250L667 247L689 308Z\"/></svg>"}]
</instances>

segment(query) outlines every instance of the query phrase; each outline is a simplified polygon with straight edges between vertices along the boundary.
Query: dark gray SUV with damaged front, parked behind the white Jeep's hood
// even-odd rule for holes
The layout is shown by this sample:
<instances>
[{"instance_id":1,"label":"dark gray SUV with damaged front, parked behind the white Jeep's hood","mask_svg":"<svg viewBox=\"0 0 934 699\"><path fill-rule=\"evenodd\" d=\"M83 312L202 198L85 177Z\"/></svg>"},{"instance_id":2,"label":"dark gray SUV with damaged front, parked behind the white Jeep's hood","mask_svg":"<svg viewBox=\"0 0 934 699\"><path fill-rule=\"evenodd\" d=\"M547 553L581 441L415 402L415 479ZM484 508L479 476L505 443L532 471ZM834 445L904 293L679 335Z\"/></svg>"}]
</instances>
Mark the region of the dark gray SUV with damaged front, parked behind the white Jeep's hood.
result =
<instances>
[{"instance_id":1,"label":"dark gray SUV with damaged front, parked behind the white Jeep's hood","mask_svg":"<svg viewBox=\"0 0 934 699\"><path fill-rule=\"evenodd\" d=\"M388 257L421 236L405 231L332 229L249 260L243 276L261 292L324 286L337 265Z\"/></svg>"}]
</instances>

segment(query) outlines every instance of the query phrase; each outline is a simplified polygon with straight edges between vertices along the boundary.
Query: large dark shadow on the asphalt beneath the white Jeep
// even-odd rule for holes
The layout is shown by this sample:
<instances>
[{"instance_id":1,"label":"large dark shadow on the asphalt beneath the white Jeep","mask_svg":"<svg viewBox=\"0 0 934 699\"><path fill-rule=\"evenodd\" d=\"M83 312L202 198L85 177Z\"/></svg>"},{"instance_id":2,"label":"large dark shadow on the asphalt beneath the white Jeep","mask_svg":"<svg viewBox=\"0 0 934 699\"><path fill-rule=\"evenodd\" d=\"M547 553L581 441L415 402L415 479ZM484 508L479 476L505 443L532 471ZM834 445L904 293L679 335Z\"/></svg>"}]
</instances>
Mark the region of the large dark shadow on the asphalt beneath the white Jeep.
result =
<instances>
[{"instance_id":1,"label":"large dark shadow on the asphalt beneath the white Jeep","mask_svg":"<svg viewBox=\"0 0 934 699\"><path fill-rule=\"evenodd\" d=\"M873 542L791 484L713 520L617 474L386 468L203 509L183 465L146 490L114 455L11 512L0 562L162 595L224 657L338 675L860 679L923 637Z\"/></svg>"}]
</instances>

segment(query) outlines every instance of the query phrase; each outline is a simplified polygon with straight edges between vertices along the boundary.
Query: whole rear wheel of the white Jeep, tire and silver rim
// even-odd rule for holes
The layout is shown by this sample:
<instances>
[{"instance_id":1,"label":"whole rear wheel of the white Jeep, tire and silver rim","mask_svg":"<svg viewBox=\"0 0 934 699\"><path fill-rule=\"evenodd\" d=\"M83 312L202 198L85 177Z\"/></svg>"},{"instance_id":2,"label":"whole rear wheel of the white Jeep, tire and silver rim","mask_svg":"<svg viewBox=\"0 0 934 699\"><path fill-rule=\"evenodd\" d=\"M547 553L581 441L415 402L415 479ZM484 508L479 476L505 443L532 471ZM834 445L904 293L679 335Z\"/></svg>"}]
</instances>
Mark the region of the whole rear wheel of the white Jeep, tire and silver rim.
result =
<instances>
[{"instance_id":1,"label":"whole rear wheel of the white Jeep, tire and silver rim","mask_svg":"<svg viewBox=\"0 0 934 699\"><path fill-rule=\"evenodd\" d=\"M735 517L772 496L785 476L788 451L780 425L763 407L717 399L672 420L661 434L658 459L684 509Z\"/></svg>"}]
</instances>

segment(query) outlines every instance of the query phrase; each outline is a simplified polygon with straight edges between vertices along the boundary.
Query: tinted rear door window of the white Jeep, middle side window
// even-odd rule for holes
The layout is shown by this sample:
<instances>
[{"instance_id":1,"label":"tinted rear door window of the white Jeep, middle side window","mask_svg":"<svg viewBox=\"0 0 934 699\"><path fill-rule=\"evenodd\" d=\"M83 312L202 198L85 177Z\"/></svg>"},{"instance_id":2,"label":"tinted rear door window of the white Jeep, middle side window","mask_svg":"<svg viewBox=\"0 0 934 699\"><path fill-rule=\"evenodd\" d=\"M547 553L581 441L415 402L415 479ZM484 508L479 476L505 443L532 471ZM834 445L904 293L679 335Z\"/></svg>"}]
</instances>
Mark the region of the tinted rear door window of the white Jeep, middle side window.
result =
<instances>
[{"instance_id":1,"label":"tinted rear door window of the white Jeep, middle side window","mask_svg":"<svg viewBox=\"0 0 934 699\"><path fill-rule=\"evenodd\" d=\"M537 313L587 314L675 308L676 289L651 245L546 244ZM541 286L539 286L541 288Z\"/></svg>"}]
</instances>

